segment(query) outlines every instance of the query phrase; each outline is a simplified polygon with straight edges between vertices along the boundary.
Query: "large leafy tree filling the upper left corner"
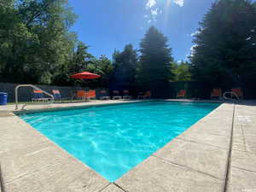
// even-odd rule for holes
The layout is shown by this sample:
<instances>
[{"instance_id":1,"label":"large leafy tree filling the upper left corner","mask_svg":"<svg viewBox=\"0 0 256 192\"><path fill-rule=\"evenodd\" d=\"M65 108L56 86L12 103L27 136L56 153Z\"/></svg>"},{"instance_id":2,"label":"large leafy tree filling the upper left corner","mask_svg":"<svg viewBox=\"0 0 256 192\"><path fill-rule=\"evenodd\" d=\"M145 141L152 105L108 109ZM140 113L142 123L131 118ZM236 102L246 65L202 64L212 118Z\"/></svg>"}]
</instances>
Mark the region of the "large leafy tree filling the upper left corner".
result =
<instances>
[{"instance_id":1,"label":"large leafy tree filling the upper left corner","mask_svg":"<svg viewBox=\"0 0 256 192\"><path fill-rule=\"evenodd\" d=\"M67 0L15 0L0 9L0 79L50 84L76 41Z\"/></svg>"}]
</instances>

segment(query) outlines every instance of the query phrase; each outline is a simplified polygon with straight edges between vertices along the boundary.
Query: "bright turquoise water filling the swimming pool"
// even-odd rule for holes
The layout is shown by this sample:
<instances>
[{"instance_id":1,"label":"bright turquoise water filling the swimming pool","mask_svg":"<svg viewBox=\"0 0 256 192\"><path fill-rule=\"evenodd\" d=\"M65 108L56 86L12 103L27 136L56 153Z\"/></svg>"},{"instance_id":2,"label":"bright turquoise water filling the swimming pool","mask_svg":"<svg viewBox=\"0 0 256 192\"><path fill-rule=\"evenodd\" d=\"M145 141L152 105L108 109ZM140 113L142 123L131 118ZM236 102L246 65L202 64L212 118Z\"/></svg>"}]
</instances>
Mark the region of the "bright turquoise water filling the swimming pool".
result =
<instances>
[{"instance_id":1,"label":"bright turquoise water filling the swimming pool","mask_svg":"<svg viewBox=\"0 0 256 192\"><path fill-rule=\"evenodd\" d=\"M143 102L20 115L113 182L218 104Z\"/></svg>"}]
</instances>

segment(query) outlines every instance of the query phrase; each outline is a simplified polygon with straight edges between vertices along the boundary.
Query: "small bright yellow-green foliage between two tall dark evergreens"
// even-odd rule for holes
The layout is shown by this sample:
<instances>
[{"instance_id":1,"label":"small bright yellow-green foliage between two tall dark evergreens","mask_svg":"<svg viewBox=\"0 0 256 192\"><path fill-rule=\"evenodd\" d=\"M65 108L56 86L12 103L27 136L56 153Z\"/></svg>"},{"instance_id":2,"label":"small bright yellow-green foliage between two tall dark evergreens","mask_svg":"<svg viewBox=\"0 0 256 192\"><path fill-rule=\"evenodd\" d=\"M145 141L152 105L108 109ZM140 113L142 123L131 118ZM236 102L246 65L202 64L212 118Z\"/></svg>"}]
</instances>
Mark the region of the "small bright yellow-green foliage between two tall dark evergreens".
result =
<instances>
[{"instance_id":1,"label":"small bright yellow-green foliage between two tall dark evergreens","mask_svg":"<svg viewBox=\"0 0 256 192\"><path fill-rule=\"evenodd\" d=\"M171 63L171 72L173 74L171 81L190 81L191 73L188 61L182 61L180 63Z\"/></svg>"}]
</instances>

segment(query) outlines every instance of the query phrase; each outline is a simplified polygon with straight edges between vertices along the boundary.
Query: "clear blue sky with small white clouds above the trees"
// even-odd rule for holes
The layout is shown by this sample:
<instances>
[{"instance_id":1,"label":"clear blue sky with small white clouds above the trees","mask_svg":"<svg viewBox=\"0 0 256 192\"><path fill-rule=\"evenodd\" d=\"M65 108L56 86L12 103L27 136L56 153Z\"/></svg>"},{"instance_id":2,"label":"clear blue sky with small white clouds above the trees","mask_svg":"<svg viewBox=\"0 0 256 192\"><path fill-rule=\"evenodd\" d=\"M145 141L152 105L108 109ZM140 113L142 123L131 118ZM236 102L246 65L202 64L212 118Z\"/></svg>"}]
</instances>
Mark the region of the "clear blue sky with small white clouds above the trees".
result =
<instances>
[{"instance_id":1,"label":"clear blue sky with small white clouds above the trees","mask_svg":"<svg viewBox=\"0 0 256 192\"><path fill-rule=\"evenodd\" d=\"M185 60L193 45L191 34L214 0L69 0L79 16L72 31L93 55L112 59L125 44L139 47L149 26L169 39L176 61Z\"/></svg>"}]
</instances>

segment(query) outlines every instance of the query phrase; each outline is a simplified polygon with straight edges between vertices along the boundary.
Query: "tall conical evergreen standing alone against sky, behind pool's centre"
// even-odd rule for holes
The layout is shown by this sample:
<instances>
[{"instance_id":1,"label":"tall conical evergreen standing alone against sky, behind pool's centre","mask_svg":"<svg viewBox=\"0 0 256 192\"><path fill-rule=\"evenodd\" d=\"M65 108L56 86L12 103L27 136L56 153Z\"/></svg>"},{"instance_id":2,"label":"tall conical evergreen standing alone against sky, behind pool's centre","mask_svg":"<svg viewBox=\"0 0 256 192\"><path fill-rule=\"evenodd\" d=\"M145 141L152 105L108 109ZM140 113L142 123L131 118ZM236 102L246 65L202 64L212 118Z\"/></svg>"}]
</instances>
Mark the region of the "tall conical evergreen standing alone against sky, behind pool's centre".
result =
<instances>
[{"instance_id":1,"label":"tall conical evergreen standing alone against sky, behind pool's centre","mask_svg":"<svg viewBox=\"0 0 256 192\"><path fill-rule=\"evenodd\" d=\"M154 92L160 94L172 75L172 49L167 45L167 38L154 26L148 29L140 47L138 82L144 89L155 90Z\"/></svg>"}]
</instances>

